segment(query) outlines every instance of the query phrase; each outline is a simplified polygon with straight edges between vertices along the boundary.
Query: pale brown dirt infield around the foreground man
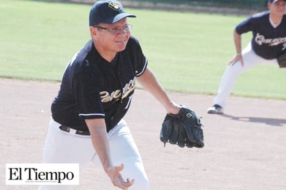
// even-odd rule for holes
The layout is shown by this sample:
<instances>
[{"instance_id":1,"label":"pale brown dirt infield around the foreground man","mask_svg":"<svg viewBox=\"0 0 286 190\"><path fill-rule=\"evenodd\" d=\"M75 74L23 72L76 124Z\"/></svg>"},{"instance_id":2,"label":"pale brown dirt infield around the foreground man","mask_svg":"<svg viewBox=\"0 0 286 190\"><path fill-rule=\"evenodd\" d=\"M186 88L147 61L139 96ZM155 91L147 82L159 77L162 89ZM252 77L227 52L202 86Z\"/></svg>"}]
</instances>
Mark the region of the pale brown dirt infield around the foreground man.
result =
<instances>
[{"instance_id":1,"label":"pale brown dirt infield around the foreground man","mask_svg":"<svg viewBox=\"0 0 286 190\"><path fill-rule=\"evenodd\" d=\"M59 83L0 79L0 189L6 163L40 163ZM165 116L153 96L137 89L126 115L154 190L286 189L286 101L231 97L226 114L205 112L213 96L171 93L203 116L205 147L164 148L158 134ZM78 189L115 189L92 164Z\"/></svg>"}]
</instances>

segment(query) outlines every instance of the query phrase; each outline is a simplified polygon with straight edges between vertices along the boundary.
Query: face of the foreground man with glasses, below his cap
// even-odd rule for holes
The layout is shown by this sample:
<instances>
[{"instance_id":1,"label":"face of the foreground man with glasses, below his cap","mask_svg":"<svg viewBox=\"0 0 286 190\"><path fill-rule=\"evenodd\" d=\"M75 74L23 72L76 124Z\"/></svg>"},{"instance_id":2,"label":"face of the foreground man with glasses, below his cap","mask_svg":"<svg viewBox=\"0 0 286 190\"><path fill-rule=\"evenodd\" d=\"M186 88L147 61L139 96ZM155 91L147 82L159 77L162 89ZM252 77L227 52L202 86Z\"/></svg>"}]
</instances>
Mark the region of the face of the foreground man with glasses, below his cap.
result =
<instances>
[{"instance_id":1,"label":"face of the foreground man with glasses, below his cap","mask_svg":"<svg viewBox=\"0 0 286 190\"><path fill-rule=\"evenodd\" d=\"M123 51L131 35L131 26L128 25L126 18L115 24L99 24L94 29L96 49L103 49L106 52Z\"/></svg>"}]
</instances>

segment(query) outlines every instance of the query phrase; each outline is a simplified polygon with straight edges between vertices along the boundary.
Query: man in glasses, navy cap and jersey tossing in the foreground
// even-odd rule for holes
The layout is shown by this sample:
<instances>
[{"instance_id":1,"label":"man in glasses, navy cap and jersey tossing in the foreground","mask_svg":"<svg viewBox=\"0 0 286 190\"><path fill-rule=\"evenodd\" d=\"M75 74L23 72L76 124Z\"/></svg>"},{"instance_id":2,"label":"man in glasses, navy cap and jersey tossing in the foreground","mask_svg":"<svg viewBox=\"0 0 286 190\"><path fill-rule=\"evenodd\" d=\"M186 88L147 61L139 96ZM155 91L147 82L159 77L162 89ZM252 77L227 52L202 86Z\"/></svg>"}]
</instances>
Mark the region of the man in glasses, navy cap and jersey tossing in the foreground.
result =
<instances>
[{"instance_id":1,"label":"man in glasses, navy cap and jersey tossing in the foreground","mask_svg":"<svg viewBox=\"0 0 286 190\"><path fill-rule=\"evenodd\" d=\"M181 106L171 101L147 67L127 17L135 15L125 12L119 1L96 1L92 6L92 39L74 55L63 74L51 105L43 162L78 163L82 171L91 161L106 172L115 187L146 190L150 189L149 180L123 119L135 81L153 94L167 113L178 114Z\"/></svg>"}]
</instances>

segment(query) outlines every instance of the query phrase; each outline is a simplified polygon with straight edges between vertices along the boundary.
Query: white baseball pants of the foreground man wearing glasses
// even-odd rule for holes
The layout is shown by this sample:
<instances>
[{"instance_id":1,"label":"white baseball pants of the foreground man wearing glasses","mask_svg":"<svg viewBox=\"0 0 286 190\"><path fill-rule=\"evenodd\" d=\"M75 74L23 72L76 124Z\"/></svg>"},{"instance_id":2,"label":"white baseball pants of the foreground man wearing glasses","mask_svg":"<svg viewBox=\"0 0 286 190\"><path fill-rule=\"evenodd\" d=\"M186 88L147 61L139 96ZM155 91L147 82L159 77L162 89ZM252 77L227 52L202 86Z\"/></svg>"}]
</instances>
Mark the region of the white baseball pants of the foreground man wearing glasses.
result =
<instances>
[{"instance_id":1,"label":"white baseball pants of the foreground man wearing glasses","mask_svg":"<svg viewBox=\"0 0 286 190\"><path fill-rule=\"evenodd\" d=\"M44 145L44 163L78 163L80 171L83 171L91 161L95 166L103 169L90 136L70 134L60 130L59 126L60 123L51 119ZM116 166L124 164L124 170L121 171L124 179L135 179L135 183L128 189L150 189L140 153L124 120L108 132L108 141L112 163ZM40 190L73 188L67 185L47 185L41 186Z\"/></svg>"}]
</instances>

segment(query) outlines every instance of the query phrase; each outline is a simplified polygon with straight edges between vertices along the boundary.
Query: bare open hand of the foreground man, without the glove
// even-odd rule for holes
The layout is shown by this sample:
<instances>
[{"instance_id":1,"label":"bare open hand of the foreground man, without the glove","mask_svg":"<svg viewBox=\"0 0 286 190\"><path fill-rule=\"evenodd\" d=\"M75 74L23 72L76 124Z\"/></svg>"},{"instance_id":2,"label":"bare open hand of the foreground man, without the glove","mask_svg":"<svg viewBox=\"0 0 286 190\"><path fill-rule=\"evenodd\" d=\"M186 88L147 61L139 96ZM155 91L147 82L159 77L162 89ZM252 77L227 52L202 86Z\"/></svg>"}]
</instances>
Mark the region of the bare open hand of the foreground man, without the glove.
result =
<instances>
[{"instance_id":1,"label":"bare open hand of the foreground man, without the glove","mask_svg":"<svg viewBox=\"0 0 286 190\"><path fill-rule=\"evenodd\" d=\"M131 187L131 185L133 185L135 180L130 181L129 178L127 178L127 180L125 181L122 178L121 174L119 173L123 169L124 169L123 164L121 164L120 166L112 166L108 169L107 173L108 173L108 176L109 176L112 184L115 187L119 187L121 189L128 189L128 187Z\"/></svg>"}]
</instances>

